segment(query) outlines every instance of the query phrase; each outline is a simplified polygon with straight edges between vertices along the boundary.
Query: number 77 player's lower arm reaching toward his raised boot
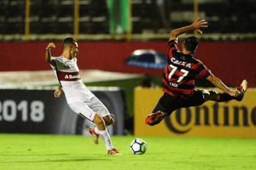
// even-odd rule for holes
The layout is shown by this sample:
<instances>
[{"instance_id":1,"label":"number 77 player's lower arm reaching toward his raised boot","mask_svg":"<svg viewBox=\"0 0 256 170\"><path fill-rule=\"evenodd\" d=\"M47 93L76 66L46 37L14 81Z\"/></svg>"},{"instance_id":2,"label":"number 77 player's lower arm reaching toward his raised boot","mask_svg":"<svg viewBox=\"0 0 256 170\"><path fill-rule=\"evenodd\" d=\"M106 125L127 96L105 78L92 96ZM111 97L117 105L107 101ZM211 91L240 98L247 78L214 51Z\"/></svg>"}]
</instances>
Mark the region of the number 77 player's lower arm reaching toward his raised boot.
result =
<instances>
[{"instance_id":1,"label":"number 77 player's lower arm reaching toward his raised boot","mask_svg":"<svg viewBox=\"0 0 256 170\"><path fill-rule=\"evenodd\" d=\"M230 94L230 96L236 96L237 97L240 94L240 91L238 91L238 90L235 90L235 91L231 90L218 77L214 76L213 74L208 76L206 79L207 79L207 81L211 82L217 88L221 89L225 93Z\"/></svg>"}]
</instances>

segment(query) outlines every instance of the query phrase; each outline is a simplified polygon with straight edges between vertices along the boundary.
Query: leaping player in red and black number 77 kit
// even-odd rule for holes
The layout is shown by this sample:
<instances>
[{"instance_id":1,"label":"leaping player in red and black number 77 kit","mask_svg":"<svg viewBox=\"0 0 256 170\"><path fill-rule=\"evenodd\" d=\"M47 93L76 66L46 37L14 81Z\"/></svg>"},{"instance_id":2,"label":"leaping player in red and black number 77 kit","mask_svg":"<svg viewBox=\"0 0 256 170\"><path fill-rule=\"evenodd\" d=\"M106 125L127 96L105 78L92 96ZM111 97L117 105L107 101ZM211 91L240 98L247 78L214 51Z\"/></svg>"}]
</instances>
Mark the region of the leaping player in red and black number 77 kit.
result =
<instances>
[{"instance_id":1,"label":"leaping player in red and black number 77 kit","mask_svg":"<svg viewBox=\"0 0 256 170\"><path fill-rule=\"evenodd\" d=\"M206 101L230 101L235 99L241 101L247 90L247 81L243 80L240 87L233 91L228 88L218 77L214 76L200 60L194 58L194 52L198 45L196 37L187 37L182 43L182 52L177 48L178 36L190 31L199 30L207 27L206 20L199 18L192 25L173 30L168 43L168 63L163 72L163 96L153 110L148 115L145 123L148 125L156 125L165 118L170 116L174 110L179 108L187 108L190 106L199 106ZM195 88L195 76L201 76L211 82L217 88L224 91L218 93L212 90L200 90Z\"/></svg>"}]
</instances>

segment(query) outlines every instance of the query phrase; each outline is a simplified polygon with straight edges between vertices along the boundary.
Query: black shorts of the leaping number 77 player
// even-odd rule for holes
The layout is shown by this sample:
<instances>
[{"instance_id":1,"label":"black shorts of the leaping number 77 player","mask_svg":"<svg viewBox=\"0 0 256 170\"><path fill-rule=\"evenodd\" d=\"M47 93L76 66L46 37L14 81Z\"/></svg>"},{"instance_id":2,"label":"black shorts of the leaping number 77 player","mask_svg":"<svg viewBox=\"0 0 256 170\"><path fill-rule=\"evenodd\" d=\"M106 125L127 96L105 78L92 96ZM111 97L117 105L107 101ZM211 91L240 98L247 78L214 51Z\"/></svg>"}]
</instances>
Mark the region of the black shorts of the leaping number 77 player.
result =
<instances>
[{"instance_id":1,"label":"black shorts of the leaping number 77 player","mask_svg":"<svg viewBox=\"0 0 256 170\"><path fill-rule=\"evenodd\" d=\"M167 93L164 93L163 96L158 101L158 104L153 110L153 113L156 111L162 111L171 115L174 110L179 108L188 108L190 106L200 106L205 102L204 100L204 91L195 90L192 96L187 98L180 98L180 96L171 96Z\"/></svg>"}]
</instances>

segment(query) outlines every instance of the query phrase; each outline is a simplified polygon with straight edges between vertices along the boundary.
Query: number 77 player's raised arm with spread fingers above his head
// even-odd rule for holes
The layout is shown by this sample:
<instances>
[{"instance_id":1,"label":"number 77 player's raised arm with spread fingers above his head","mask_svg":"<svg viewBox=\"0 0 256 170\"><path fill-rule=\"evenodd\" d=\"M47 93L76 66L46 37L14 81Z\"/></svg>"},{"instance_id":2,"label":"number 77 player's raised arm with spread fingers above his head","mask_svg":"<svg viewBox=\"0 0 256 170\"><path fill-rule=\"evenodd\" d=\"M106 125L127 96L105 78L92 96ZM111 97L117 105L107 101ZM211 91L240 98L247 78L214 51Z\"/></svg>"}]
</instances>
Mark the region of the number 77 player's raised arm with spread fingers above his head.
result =
<instances>
[{"instance_id":1,"label":"number 77 player's raised arm with spread fingers above his head","mask_svg":"<svg viewBox=\"0 0 256 170\"><path fill-rule=\"evenodd\" d=\"M190 31L190 30L195 30L198 33L202 33L202 31L200 30L200 28L202 28L202 27L207 27L206 20L201 20L200 18L197 18L197 20L194 21L194 23L192 23L191 25L184 26L182 28L178 28L177 30L173 30L171 32L169 41L170 40L177 40L179 35L187 32L187 31Z\"/></svg>"}]
</instances>

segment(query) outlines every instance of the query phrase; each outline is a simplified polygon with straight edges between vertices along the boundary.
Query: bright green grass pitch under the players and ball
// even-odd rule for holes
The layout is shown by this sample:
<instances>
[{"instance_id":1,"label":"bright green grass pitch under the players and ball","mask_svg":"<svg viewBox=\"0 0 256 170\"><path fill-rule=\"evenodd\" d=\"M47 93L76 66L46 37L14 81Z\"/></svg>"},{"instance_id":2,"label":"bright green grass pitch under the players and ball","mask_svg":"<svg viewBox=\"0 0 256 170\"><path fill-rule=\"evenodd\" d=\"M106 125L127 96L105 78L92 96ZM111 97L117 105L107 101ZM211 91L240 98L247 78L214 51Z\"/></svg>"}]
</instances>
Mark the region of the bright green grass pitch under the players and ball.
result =
<instances>
[{"instance_id":1,"label":"bright green grass pitch under the players and ball","mask_svg":"<svg viewBox=\"0 0 256 170\"><path fill-rule=\"evenodd\" d=\"M65 135L0 134L0 169L256 169L256 139L141 137L144 155L132 155L133 136L113 136L122 156L108 156L102 139Z\"/></svg>"}]
</instances>

